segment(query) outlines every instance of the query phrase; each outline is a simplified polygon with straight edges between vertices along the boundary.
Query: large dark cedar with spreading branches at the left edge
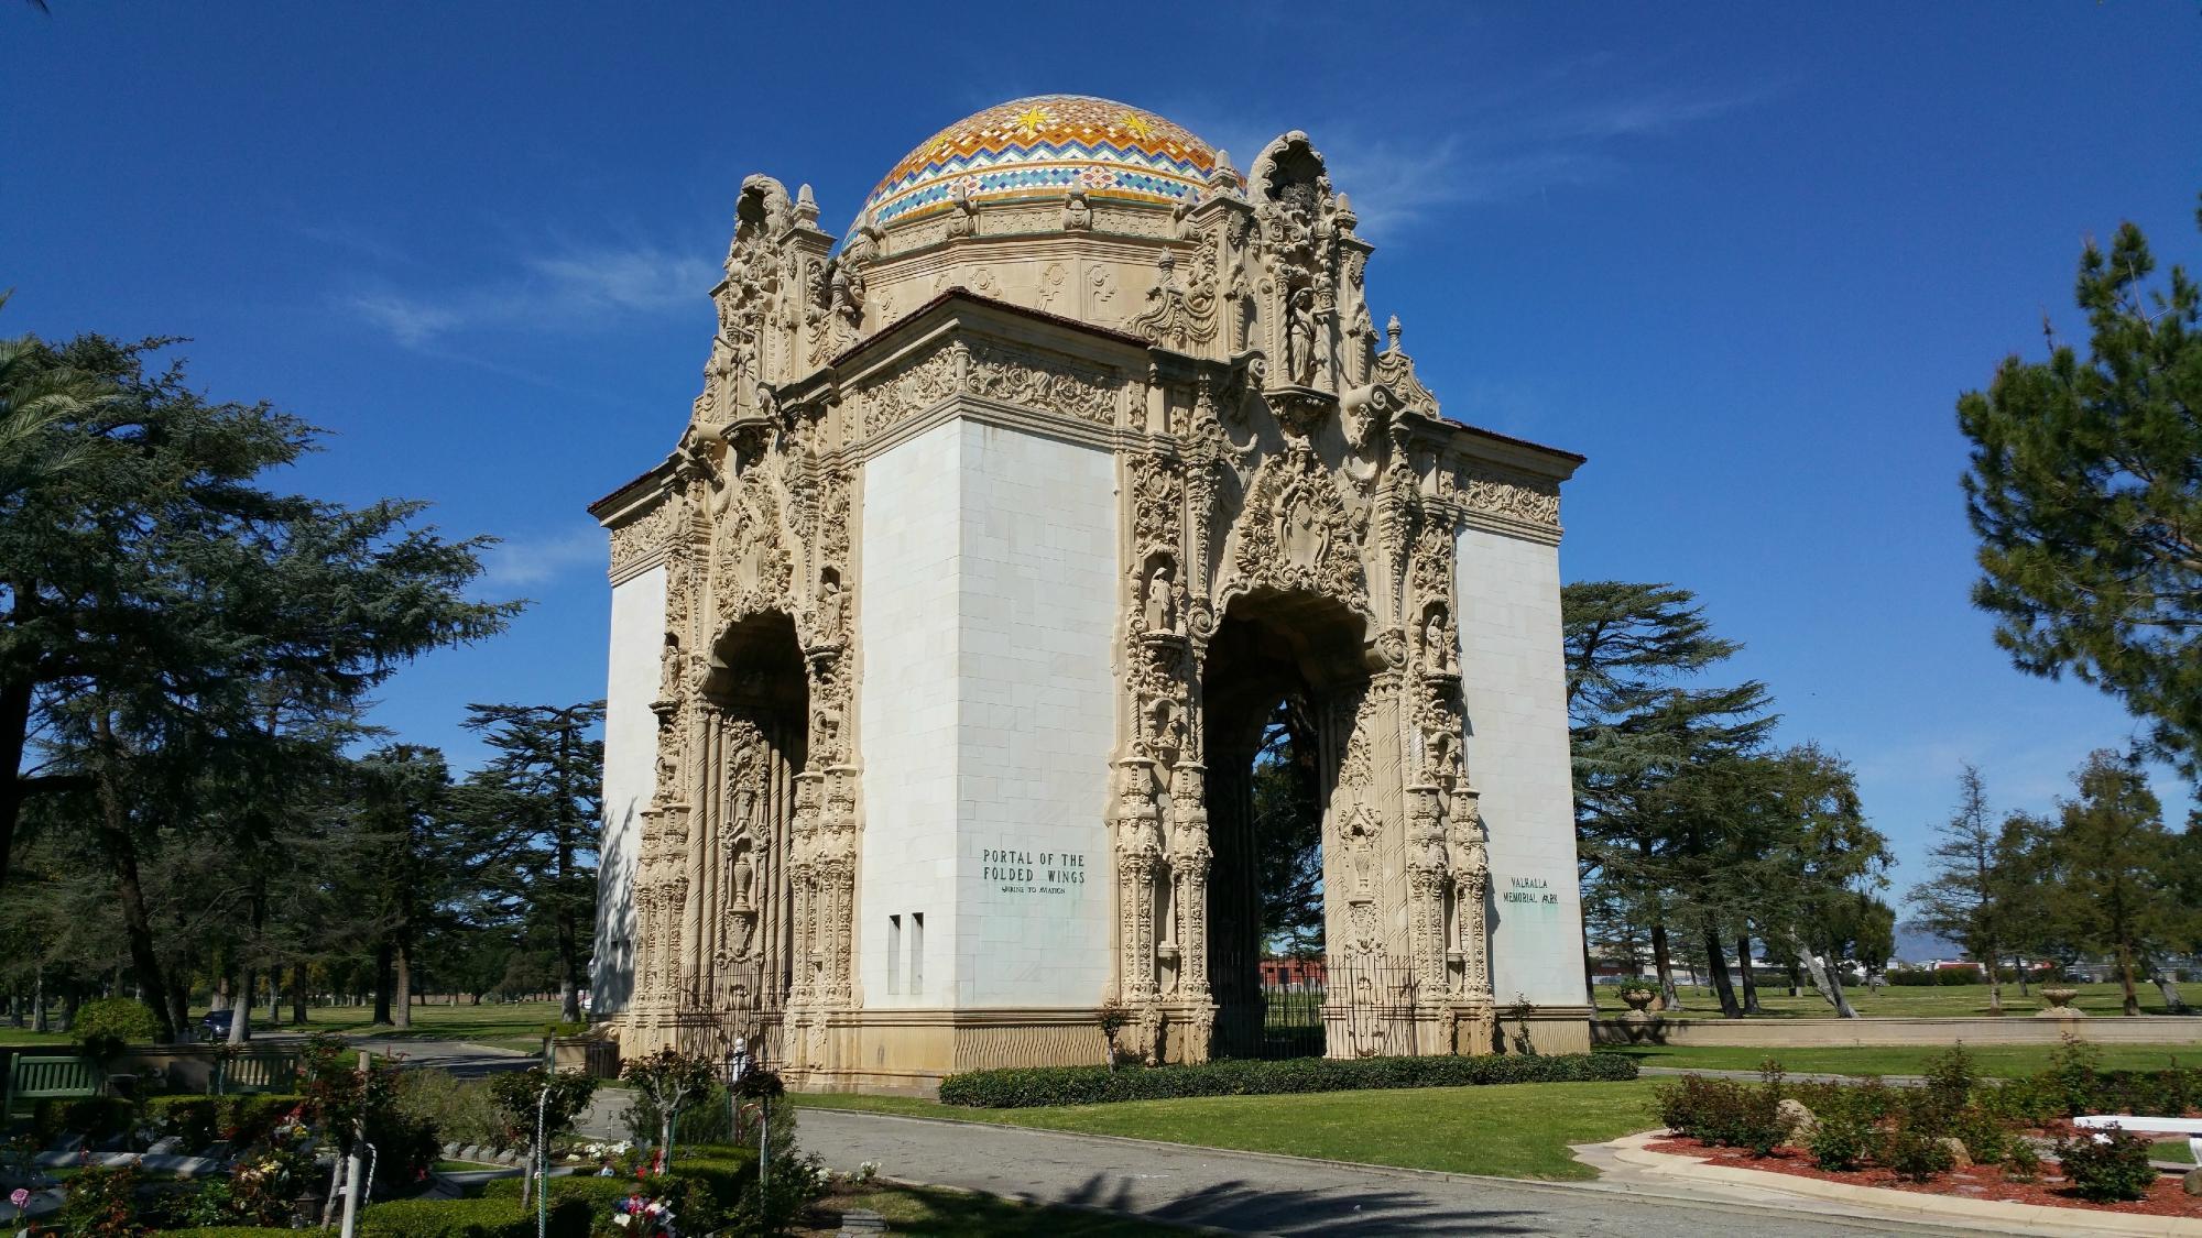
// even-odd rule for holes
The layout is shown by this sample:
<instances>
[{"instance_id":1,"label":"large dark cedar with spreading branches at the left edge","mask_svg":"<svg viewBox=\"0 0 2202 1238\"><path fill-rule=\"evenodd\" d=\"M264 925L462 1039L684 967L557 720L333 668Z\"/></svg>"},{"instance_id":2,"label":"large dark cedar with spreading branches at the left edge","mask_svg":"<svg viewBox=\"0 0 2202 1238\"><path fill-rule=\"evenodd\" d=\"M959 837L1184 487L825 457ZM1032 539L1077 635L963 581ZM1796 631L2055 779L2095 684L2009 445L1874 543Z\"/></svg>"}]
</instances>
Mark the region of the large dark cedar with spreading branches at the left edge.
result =
<instances>
[{"instance_id":1,"label":"large dark cedar with spreading branches at the left edge","mask_svg":"<svg viewBox=\"0 0 2202 1238\"><path fill-rule=\"evenodd\" d=\"M288 815L275 800L297 736L344 725L407 659L498 632L515 608L465 597L482 542L416 526L421 504L269 489L317 432L211 403L176 368L148 374L150 348L55 350L110 394L44 427L73 465L0 520L0 753L20 760L0 846L31 791L84 835L174 1035L187 958L154 916L167 859L264 844Z\"/></svg>"}]
</instances>

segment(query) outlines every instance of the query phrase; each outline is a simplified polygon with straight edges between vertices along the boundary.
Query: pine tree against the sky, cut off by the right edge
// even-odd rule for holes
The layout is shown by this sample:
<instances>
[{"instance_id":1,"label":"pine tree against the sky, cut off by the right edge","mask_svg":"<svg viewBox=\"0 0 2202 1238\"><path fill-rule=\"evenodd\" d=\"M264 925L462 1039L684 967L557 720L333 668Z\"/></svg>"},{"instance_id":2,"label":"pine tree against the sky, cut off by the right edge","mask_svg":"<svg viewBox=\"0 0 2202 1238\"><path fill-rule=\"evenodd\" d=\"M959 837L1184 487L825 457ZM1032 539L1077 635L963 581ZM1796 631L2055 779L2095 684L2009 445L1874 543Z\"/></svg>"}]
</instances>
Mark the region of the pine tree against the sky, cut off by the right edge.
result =
<instances>
[{"instance_id":1,"label":"pine tree against the sky, cut off by the right edge","mask_svg":"<svg viewBox=\"0 0 2202 1238\"><path fill-rule=\"evenodd\" d=\"M2202 220L2202 211L2198 211ZM1973 601L2030 674L2076 674L2154 723L2184 769L2202 760L2202 289L2180 267L2149 289L2132 222L2081 253L2083 359L2004 359L1958 399L1973 441L1966 513Z\"/></svg>"}]
</instances>

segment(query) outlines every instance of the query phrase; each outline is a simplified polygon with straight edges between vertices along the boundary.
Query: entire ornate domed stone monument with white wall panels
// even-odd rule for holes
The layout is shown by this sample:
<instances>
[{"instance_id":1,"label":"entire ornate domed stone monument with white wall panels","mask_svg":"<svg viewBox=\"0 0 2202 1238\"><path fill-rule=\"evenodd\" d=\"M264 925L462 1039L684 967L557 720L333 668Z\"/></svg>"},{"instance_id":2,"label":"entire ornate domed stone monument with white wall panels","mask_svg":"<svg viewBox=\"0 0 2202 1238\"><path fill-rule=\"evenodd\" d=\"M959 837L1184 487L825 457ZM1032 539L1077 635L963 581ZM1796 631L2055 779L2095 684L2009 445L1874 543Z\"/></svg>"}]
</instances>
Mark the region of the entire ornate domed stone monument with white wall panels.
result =
<instances>
[{"instance_id":1,"label":"entire ornate domed stone monument with white wall panels","mask_svg":"<svg viewBox=\"0 0 2202 1238\"><path fill-rule=\"evenodd\" d=\"M1581 456L1449 421L1301 132L949 126L839 242L735 205L612 537L597 1009L806 1086L1260 1038L1253 753L1308 703L1332 1055L1588 1044L1559 645ZM1515 1016L1508 1013L1508 1024Z\"/></svg>"}]
</instances>

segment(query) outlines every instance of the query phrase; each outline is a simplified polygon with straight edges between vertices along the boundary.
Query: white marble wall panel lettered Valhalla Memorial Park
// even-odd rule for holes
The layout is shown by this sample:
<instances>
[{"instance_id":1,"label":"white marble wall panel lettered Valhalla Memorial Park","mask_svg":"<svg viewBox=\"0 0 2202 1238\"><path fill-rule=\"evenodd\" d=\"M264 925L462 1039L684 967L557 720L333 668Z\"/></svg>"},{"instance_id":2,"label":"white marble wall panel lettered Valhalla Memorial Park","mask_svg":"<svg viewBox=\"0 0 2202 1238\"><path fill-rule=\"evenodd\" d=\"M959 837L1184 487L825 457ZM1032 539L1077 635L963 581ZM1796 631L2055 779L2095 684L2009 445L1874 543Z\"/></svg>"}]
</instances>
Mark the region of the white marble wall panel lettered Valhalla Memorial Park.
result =
<instances>
[{"instance_id":1,"label":"white marble wall panel lettered Valhalla Memorial Park","mask_svg":"<svg viewBox=\"0 0 2202 1238\"><path fill-rule=\"evenodd\" d=\"M1559 549L1464 529L1456 571L1464 753L1491 830L1491 991L1502 1007L1581 1004Z\"/></svg>"}]
</instances>

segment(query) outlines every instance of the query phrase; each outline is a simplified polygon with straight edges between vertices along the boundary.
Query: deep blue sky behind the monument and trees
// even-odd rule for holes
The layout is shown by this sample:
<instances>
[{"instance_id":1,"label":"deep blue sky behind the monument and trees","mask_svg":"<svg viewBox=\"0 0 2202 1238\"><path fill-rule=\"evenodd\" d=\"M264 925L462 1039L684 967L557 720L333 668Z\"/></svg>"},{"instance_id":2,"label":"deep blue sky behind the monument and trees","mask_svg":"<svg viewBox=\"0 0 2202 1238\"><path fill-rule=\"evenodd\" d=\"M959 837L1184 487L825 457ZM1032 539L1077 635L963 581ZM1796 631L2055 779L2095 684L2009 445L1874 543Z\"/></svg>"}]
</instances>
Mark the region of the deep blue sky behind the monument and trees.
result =
<instances>
[{"instance_id":1,"label":"deep blue sky behind the monument and trees","mask_svg":"<svg viewBox=\"0 0 2202 1238\"><path fill-rule=\"evenodd\" d=\"M2134 723L1966 604L1953 399L2079 330L2085 234L2202 253L2202 9L0 4L0 330L189 335L335 432L295 485L504 537L511 634L377 718L603 692L584 507L672 445L749 172L841 227L936 128L1068 90L1240 163L1301 128L1449 414L1570 447L1570 579L1696 588L1918 872L1960 760L2048 806ZM2160 791L2184 811L2169 775Z\"/></svg>"}]
</instances>

